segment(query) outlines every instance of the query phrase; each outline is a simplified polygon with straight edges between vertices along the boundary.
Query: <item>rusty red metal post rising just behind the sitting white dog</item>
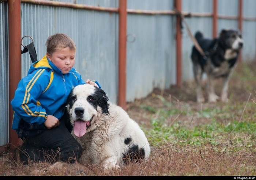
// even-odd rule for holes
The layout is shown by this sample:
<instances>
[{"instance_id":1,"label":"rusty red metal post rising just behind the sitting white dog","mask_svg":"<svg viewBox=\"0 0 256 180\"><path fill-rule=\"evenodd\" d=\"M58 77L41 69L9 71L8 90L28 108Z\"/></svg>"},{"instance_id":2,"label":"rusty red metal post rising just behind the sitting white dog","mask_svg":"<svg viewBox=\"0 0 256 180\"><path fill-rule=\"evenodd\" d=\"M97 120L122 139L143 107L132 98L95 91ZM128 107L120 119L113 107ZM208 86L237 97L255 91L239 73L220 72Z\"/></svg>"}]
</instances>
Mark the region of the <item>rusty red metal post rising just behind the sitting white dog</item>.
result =
<instances>
[{"instance_id":1,"label":"rusty red metal post rising just behind the sitting white dog","mask_svg":"<svg viewBox=\"0 0 256 180\"><path fill-rule=\"evenodd\" d=\"M127 0L119 0L118 105L126 110Z\"/></svg>"}]
</instances>

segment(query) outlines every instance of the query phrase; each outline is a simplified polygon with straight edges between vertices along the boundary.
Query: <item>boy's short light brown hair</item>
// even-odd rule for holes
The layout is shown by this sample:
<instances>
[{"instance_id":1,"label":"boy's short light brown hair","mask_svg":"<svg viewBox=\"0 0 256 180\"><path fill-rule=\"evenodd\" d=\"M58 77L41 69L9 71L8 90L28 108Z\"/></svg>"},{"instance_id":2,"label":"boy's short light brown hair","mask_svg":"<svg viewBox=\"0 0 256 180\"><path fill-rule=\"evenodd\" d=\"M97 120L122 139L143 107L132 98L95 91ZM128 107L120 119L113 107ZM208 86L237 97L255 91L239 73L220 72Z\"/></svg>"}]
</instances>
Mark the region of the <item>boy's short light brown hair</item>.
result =
<instances>
[{"instance_id":1,"label":"boy's short light brown hair","mask_svg":"<svg viewBox=\"0 0 256 180\"><path fill-rule=\"evenodd\" d=\"M69 47L69 49L76 51L75 42L69 36L62 33L51 35L46 40L45 45L46 45L46 51L50 55L52 55L55 51L59 49L63 49L65 47Z\"/></svg>"}]
</instances>

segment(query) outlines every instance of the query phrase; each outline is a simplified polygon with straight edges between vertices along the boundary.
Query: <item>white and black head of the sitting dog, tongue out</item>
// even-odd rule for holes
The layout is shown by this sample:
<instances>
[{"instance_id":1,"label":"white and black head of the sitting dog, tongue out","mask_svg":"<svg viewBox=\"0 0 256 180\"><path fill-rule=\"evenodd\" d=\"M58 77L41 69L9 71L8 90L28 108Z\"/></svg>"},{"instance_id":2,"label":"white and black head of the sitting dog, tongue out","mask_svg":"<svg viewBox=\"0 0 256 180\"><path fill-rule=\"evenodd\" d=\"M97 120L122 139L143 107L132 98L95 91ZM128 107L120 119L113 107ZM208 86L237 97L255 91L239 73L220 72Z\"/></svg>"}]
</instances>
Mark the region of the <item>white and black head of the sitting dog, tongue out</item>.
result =
<instances>
[{"instance_id":1,"label":"white and black head of the sitting dog, tongue out","mask_svg":"<svg viewBox=\"0 0 256 180\"><path fill-rule=\"evenodd\" d=\"M90 84L72 89L67 100L67 110L77 137L94 130L99 116L109 114L108 100L105 91Z\"/></svg>"}]
</instances>

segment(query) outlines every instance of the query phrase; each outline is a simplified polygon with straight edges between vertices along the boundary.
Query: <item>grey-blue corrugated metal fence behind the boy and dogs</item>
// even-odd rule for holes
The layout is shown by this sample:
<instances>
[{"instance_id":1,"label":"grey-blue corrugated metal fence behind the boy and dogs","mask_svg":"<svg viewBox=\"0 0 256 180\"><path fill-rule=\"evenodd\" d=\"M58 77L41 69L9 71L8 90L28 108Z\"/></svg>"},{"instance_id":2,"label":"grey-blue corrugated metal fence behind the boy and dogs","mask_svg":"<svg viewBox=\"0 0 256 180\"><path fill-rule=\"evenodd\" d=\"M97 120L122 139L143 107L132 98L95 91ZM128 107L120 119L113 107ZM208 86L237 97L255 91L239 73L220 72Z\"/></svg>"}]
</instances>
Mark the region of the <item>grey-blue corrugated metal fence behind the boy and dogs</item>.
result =
<instances>
[{"instance_id":1,"label":"grey-blue corrugated metal fence behind the boy and dogs","mask_svg":"<svg viewBox=\"0 0 256 180\"><path fill-rule=\"evenodd\" d=\"M1 1L0 1L1 2ZM102 7L100 11L58 5L41 0L21 0L21 37L33 37L38 59L46 53L45 41L57 32L69 35L77 45L75 68L84 79L98 80L110 101L118 101L118 0L59 0ZM48 1L52 3L53 1ZM177 39L175 0L127 0L126 102L146 97L154 88L167 89L177 83ZM217 3L217 31L238 28L242 2L242 32L245 47L242 60L256 57L256 1L182 0L182 12L191 31L213 37L213 4ZM0 4L0 146L9 142L8 1ZM192 41L182 28L182 81L193 80L190 53ZM31 42L23 39L23 44ZM22 46L21 46L22 49ZM21 77L31 65L28 53L21 55ZM17 76L19 74L11 74Z\"/></svg>"}]
</instances>

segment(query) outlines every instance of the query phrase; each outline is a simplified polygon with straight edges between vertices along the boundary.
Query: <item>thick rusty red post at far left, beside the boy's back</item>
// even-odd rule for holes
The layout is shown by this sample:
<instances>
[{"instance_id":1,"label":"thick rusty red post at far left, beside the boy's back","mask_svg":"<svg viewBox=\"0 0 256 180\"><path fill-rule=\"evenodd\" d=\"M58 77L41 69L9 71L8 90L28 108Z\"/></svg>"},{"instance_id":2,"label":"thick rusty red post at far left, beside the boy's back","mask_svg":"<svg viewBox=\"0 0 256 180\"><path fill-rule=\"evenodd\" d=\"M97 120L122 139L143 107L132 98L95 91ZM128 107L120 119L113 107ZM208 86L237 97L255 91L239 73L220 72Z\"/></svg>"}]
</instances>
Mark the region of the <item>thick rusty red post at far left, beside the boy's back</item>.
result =
<instances>
[{"instance_id":1,"label":"thick rusty red post at far left, beside the boy's back","mask_svg":"<svg viewBox=\"0 0 256 180\"><path fill-rule=\"evenodd\" d=\"M14 97L15 90L21 78L21 10L20 0L8 0L8 33L9 33L9 143L11 149L20 145L21 139L17 133L12 130L13 110L11 100Z\"/></svg>"}]
</instances>

